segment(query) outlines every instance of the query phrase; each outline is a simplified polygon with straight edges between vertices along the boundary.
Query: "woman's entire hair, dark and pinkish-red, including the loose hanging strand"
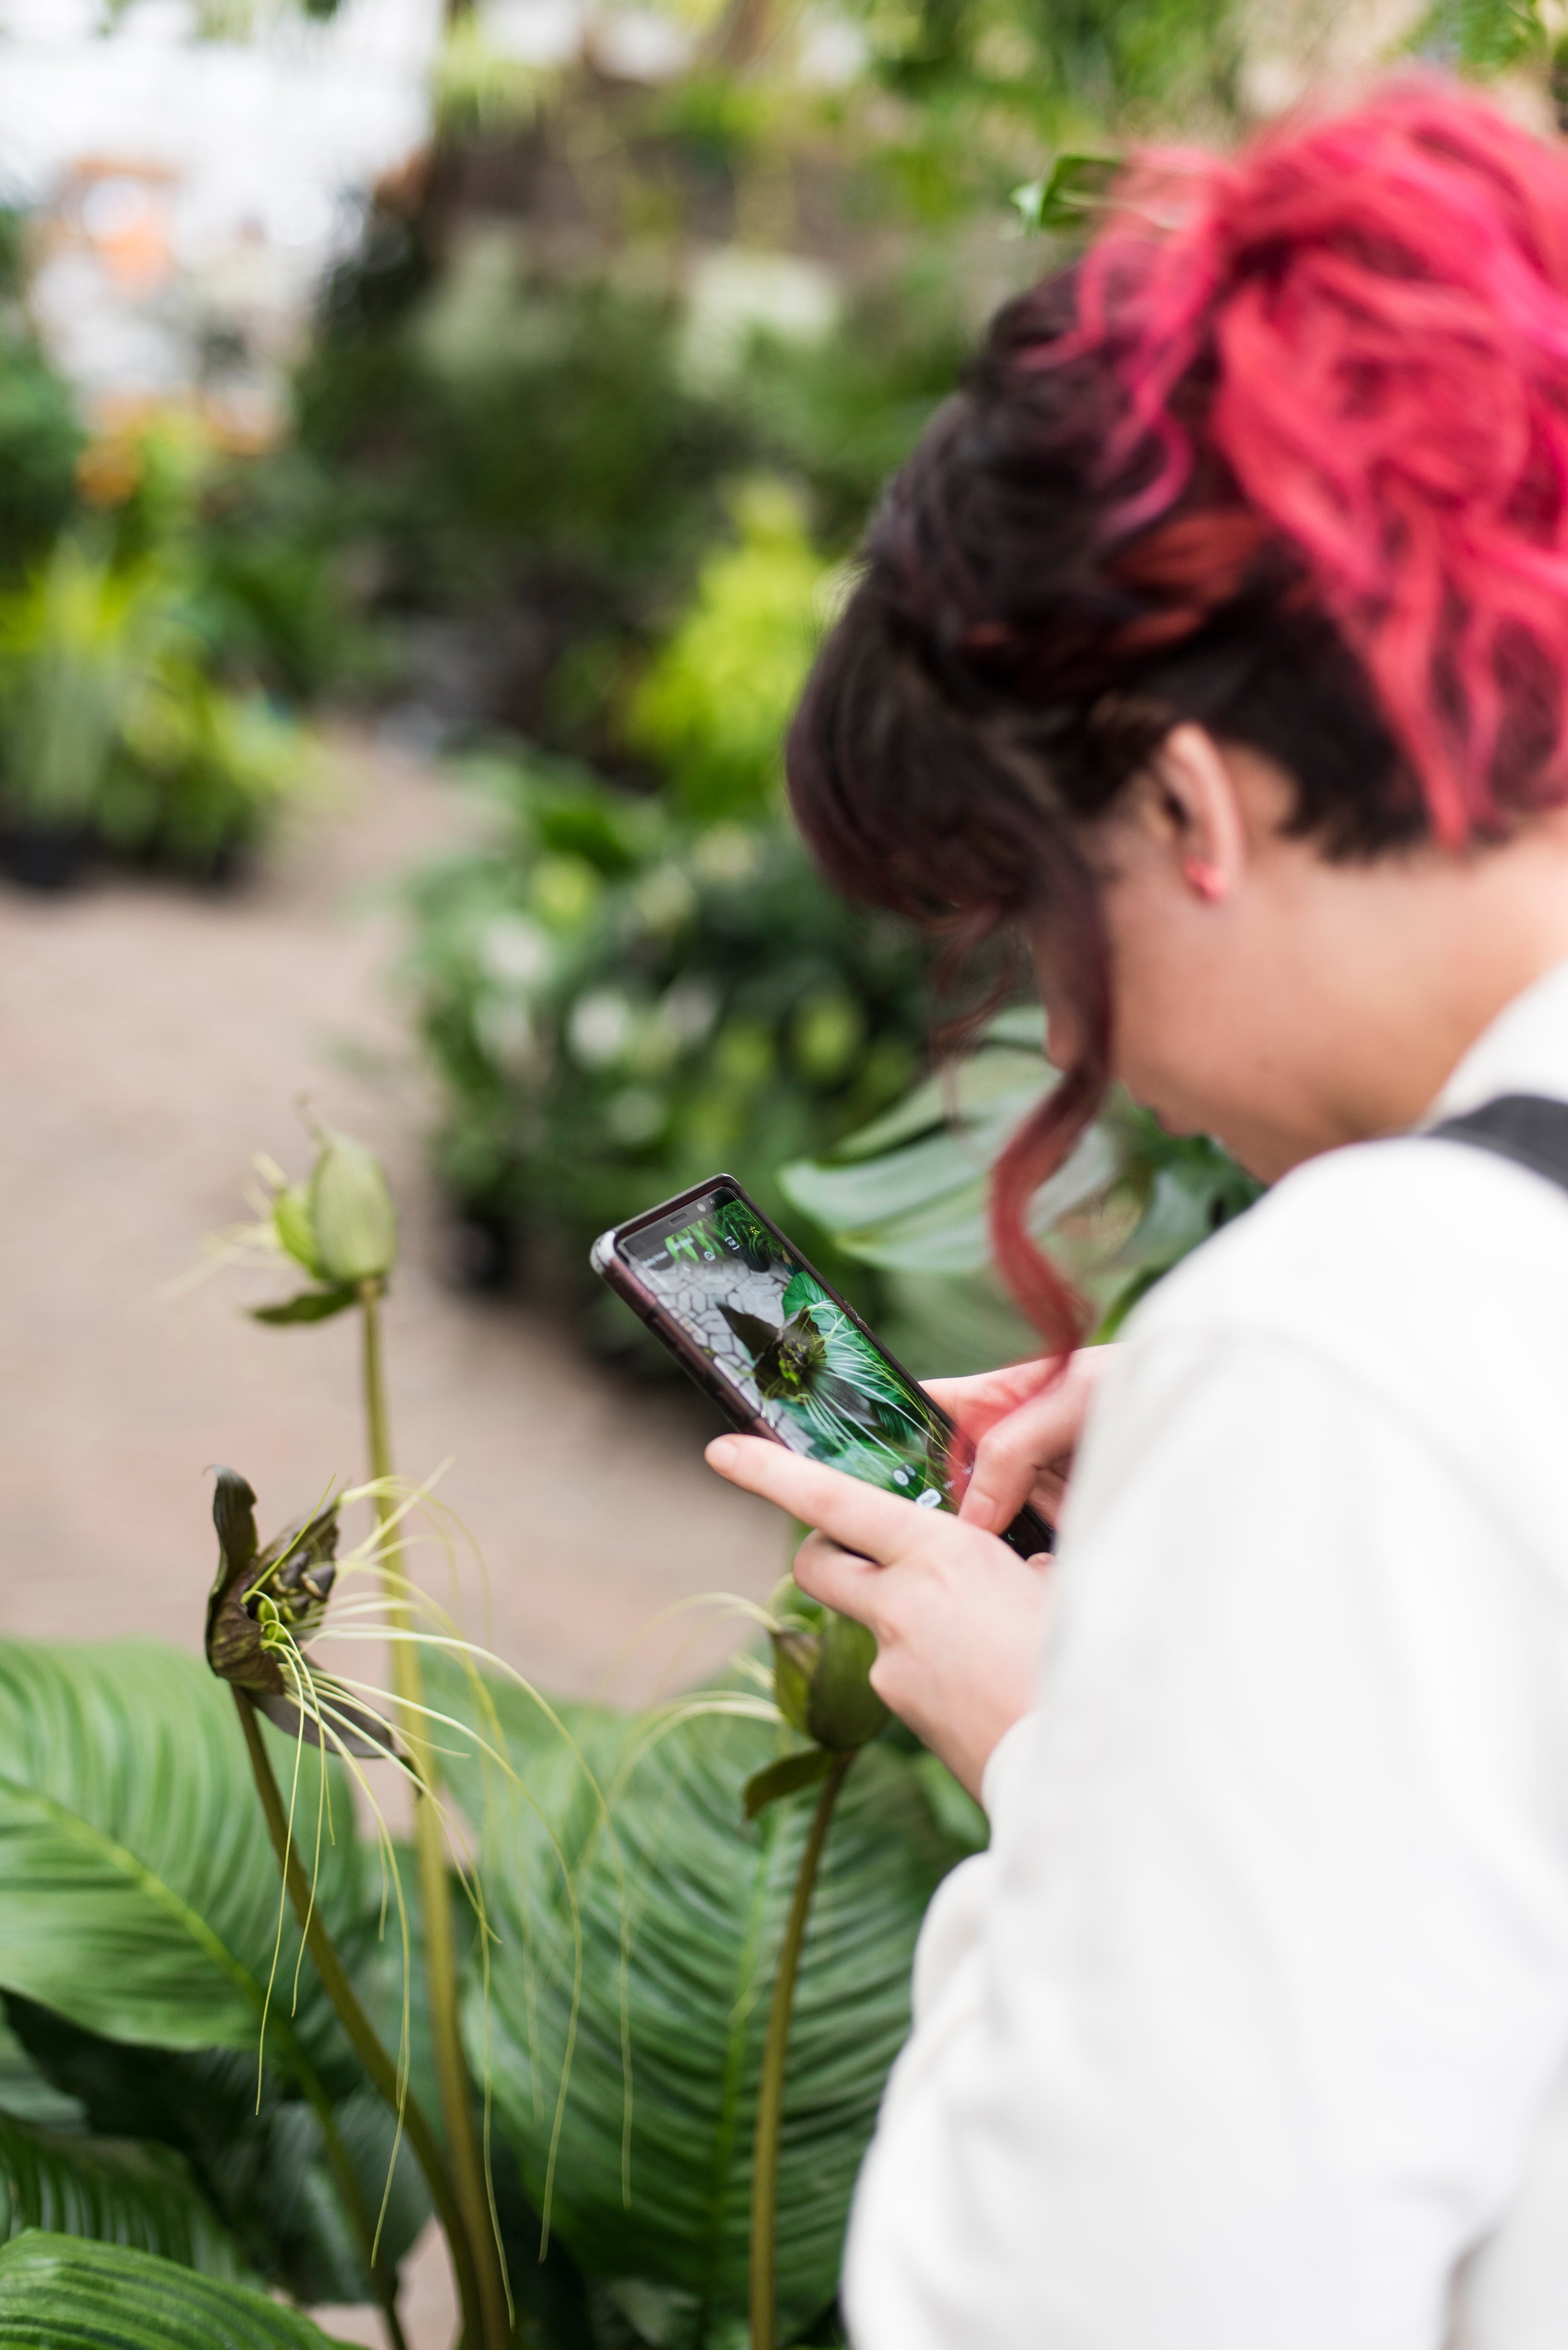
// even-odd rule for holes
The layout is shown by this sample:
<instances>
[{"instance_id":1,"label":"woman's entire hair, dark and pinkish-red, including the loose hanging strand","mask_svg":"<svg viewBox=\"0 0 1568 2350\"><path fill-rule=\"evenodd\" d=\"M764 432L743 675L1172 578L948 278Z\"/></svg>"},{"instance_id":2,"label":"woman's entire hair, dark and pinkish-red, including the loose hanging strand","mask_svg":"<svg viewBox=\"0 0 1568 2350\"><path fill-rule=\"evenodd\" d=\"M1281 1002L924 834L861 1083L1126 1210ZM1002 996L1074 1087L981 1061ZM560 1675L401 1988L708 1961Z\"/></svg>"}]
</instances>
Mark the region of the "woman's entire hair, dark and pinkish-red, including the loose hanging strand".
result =
<instances>
[{"instance_id":1,"label":"woman's entire hair, dark and pinkish-red, including the loose hanging strand","mask_svg":"<svg viewBox=\"0 0 1568 2350\"><path fill-rule=\"evenodd\" d=\"M1566 797L1568 160L1436 78L1232 157L1145 153L891 486L790 740L842 886L1053 928L1084 1050L1001 1156L997 1257L1079 1323L1027 1201L1105 1090L1077 848L1197 719L1331 858Z\"/></svg>"}]
</instances>

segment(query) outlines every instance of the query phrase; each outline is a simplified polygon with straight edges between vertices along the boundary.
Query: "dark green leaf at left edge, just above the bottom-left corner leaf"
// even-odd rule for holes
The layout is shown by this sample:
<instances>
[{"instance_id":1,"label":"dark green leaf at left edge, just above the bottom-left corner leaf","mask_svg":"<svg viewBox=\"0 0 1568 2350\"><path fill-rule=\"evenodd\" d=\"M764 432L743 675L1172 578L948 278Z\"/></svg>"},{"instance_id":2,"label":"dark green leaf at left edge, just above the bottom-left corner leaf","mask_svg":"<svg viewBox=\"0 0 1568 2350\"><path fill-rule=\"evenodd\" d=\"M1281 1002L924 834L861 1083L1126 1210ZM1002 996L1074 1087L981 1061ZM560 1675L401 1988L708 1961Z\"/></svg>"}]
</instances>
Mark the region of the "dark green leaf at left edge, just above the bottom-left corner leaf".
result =
<instances>
[{"instance_id":1,"label":"dark green leaf at left edge, just above the bottom-left corner leaf","mask_svg":"<svg viewBox=\"0 0 1568 2350\"><path fill-rule=\"evenodd\" d=\"M162 2146L35 2129L0 2113L0 2230L52 2228L103 2244L134 2244L214 2277L242 2277L244 2261Z\"/></svg>"}]
</instances>

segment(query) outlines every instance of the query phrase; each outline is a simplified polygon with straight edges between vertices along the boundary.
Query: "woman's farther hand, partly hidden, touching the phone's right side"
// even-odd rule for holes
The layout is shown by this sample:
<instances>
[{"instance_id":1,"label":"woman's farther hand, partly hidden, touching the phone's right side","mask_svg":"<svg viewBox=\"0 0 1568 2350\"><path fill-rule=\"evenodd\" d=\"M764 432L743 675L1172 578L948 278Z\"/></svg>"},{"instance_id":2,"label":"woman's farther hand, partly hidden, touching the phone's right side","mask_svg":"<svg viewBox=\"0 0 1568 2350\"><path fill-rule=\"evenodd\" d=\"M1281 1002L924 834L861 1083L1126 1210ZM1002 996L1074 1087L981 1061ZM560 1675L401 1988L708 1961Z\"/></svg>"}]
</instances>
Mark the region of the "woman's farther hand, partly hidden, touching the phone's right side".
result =
<instances>
[{"instance_id":1,"label":"woman's farther hand, partly hidden, touching the phone's right side","mask_svg":"<svg viewBox=\"0 0 1568 2350\"><path fill-rule=\"evenodd\" d=\"M926 1394L976 1448L959 1516L999 1532L1025 1502L1056 1525L1088 1398L1114 1347L1081 1347L1056 1377L1056 1356L985 1370L978 1379L926 1379Z\"/></svg>"}]
</instances>

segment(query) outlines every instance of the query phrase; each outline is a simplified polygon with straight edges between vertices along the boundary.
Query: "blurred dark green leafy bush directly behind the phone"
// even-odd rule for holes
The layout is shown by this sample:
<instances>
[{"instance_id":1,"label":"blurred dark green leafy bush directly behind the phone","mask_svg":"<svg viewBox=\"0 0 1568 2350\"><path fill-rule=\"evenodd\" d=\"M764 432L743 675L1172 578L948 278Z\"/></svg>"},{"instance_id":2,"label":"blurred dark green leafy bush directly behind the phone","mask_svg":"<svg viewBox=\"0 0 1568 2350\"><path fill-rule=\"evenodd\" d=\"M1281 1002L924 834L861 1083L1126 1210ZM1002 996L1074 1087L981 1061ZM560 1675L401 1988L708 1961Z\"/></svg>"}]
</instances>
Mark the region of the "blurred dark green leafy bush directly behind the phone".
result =
<instances>
[{"instance_id":1,"label":"blurred dark green leafy bush directly behind the phone","mask_svg":"<svg viewBox=\"0 0 1568 2350\"><path fill-rule=\"evenodd\" d=\"M922 1048L896 924L839 907L776 818L691 825L583 773L491 766L505 853L416 888L440 1168L576 1274L607 1224L715 1166L783 1159L893 1100Z\"/></svg>"}]
</instances>

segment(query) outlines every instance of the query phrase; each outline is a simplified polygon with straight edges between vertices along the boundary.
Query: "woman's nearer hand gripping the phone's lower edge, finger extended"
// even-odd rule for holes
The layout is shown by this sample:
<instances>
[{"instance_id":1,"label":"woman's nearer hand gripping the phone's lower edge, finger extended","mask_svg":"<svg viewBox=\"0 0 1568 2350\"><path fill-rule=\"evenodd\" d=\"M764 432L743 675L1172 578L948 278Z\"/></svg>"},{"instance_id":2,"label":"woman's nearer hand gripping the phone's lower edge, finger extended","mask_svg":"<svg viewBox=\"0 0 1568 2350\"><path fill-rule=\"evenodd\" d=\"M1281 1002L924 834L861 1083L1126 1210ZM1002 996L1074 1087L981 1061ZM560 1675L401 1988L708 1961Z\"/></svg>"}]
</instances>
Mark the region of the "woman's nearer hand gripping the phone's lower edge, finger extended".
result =
<instances>
[{"instance_id":1,"label":"woman's nearer hand gripping the phone's lower edge, finger extended","mask_svg":"<svg viewBox=\"0 0 1568 2350\"><path fill-rule=\"evenodd\" d=\"M717 1436L708 1464L816 1528L797 1584L870 1626L877 1697L978 1798L997 1739L1034 1704L1051 1560L762 1436Z\"/></svg>"}]
</instances>

